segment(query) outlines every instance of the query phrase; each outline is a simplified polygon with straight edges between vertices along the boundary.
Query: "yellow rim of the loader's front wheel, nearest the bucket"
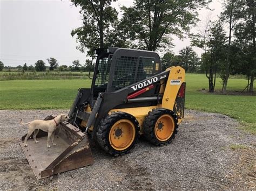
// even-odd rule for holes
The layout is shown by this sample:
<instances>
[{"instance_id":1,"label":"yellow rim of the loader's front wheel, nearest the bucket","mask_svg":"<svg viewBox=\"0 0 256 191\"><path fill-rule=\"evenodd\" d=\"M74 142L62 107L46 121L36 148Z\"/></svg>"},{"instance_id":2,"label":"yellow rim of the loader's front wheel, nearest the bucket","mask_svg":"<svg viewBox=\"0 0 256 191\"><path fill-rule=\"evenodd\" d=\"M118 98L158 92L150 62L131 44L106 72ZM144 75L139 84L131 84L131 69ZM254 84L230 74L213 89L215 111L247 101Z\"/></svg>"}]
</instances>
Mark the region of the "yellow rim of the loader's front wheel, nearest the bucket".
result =
<instances>
[{"instance_id":1,"label":"yellow rim of the loader's front wheel, nearest the bucket","mask_svg":"<svg viewBox=\"0 0 256 191\"><path fill-rule=\"evenodd\" d=\"M110 129L109 142L115 150L123 151L131 146L135 134L134 124L128 119L121 119Z\"/></svg>"}]
</instances>

